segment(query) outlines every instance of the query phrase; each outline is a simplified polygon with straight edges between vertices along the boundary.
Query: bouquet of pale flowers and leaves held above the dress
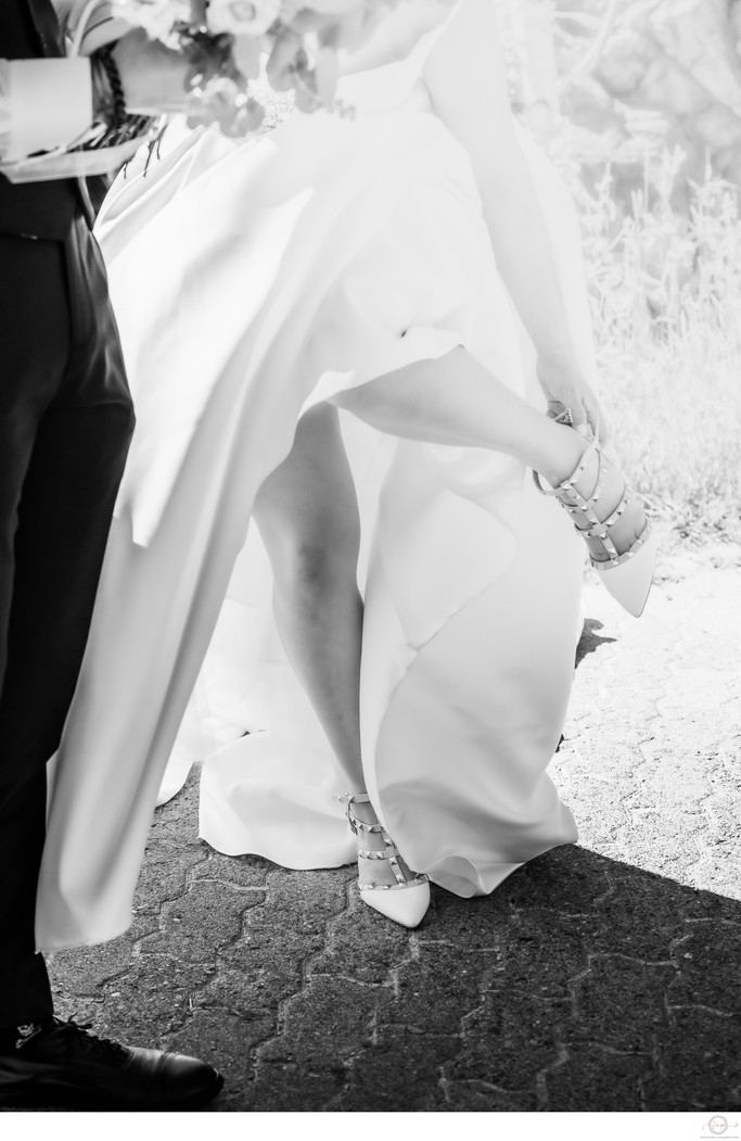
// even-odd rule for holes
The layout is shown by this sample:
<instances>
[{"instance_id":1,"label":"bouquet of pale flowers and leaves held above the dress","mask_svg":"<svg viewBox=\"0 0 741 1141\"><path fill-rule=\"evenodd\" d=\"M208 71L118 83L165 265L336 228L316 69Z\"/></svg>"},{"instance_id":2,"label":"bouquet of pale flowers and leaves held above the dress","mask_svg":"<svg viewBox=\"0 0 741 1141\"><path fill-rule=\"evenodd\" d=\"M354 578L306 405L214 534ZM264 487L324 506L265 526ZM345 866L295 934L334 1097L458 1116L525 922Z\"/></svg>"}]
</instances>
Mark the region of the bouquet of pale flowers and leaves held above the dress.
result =
<instances>
[{"instance_id":1,"label":"bouquet of pale flowers and leaves held above the dress","mask_svg":"<svg viewBox=\"0 0 741 1141\"><path fill-rule=\"evenodd\" d=\"M238 137L264 111L250 92L261 74L293 89L301 111L347 113L335 97L337 51L355 48L400 0L115 0L116 15L190 60L190 127L219 123Z\"/></svg>"}]
</instances>

